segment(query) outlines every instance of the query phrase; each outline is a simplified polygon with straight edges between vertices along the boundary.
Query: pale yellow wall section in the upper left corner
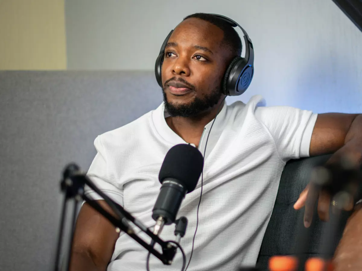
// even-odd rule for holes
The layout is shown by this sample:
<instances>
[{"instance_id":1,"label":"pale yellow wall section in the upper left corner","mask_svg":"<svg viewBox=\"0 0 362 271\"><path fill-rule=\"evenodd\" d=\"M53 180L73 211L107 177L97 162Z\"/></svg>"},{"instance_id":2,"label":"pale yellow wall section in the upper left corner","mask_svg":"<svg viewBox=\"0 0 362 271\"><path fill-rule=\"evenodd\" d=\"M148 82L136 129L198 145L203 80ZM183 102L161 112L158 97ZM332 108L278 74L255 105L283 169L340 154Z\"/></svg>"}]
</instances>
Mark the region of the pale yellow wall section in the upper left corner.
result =
<instances>
[{"instance_id":1,"label":"pale yellow wall section in the upper left corner","mask_svg":"<svg viewBox=\"0 0 362 271\"><path fill-rule=\"evenodd\" d=\"M66 68L64 0L0 0L0 69Z\"/></svg>"}]
</instances>

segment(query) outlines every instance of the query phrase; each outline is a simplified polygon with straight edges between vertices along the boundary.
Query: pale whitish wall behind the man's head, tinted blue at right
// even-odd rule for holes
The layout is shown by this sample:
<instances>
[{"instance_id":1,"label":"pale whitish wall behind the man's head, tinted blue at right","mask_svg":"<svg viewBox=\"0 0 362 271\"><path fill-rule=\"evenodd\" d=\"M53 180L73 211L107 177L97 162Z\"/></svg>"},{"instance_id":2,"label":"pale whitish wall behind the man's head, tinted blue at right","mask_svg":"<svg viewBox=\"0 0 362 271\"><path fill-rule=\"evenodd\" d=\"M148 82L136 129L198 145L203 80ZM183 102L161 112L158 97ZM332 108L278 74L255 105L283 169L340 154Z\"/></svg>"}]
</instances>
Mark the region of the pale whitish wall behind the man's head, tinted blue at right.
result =
<instances>
[{"instance_id":1,"label":"pale whitish wall behind the man's head, tinted blue at right","mask_svg":"<svg viewBox=\"0 0 362 271\"><path fill-rule=\"evenodd\" d=\"M68 69L151 70L169 31L195 12L239 22L268 106L362 112L362 33L332 0L66 0Z\"/></svg>"}]
</instances>

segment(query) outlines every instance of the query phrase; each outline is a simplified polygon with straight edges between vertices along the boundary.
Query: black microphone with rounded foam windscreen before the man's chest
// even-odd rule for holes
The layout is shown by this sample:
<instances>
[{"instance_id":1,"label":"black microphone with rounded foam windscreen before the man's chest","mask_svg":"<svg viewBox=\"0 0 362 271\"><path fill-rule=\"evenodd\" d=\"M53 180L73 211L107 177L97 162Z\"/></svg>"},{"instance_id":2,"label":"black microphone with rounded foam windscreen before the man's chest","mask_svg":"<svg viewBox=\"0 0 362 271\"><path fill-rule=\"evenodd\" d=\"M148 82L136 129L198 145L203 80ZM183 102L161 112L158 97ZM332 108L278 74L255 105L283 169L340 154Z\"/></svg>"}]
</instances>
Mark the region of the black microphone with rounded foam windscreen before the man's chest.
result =
<instances>
[{"instance_id":1,"label":"black microphone with rounded foam windscreen before the man's chest","mask_svg":"<svg viewBox=\"0 0 362 271\"><path fill-rule=\"evenodd\" d=\"M159 173L160 194L152 210L155 235L161 233L164 225L174 223L185 194L197 185L203 163L201 152L188 144L178 144L167 152Z\"/></svg>"}]
</instances>

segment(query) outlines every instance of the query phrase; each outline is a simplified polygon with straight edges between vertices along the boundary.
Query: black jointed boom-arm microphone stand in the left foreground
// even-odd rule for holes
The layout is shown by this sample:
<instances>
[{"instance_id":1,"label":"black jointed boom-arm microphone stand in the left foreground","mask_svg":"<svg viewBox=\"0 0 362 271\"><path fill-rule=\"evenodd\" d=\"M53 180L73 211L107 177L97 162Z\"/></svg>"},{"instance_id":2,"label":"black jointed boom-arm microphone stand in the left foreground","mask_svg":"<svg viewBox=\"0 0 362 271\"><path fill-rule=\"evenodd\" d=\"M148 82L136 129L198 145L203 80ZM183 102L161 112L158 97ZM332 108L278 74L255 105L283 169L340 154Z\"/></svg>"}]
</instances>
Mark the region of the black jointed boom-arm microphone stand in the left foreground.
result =
<instances>
[{"instance_id":1,"label":"black jointed boom-arm microphone stand in the left foreground","mask_svg":"<svg viewBox=\"0 0 362 271\"><path fill-rule=\"evenodd\" d=\"M92 200L88 196L84 194L84 185L88 185L91 189L94 190L98 195L100 195L105 202L109 205L112 211L118 216L115 218L108 211L104 210L104 208L97 203L97 201ZM71 221L71 234L70 234L70 242L67 250L68 257L66 259L67 270L70 268L70 260L71 260L71 249L76 221L76 211L79 207L81 199L87 202L92 208L98 211L101 215L103 215L106 219L108 219L115 227L116 232L124 231L133 238L136 242L142 245L145 249L150 251L156 258L158 258L163 264L170 265L172 264L172 260L176 254L177 247L172 245L171 242L163 241L159 236L153 234L150 229L148 229L145 225L141 223L138 219L132 216L129 212L127 212L122 206L115 203L112 199L110 199L106 194L104 194L100 189L97 188L96 185L89 179L85 173L79 171L79 167L75 164L70 164L66 167L63 173L63 180L61 181L61 188L63 193L65 193L63 210L60 219L60 229L59 229L59 237L58 237L58 245L56 250L56 260L54 270L59 271L59 261L60 261L60 251L62 248L62 237L64 232L64 222L65 222L65 214L67 201L69 199L75 199L75 205L72 212L72 221ZM146 233L151 237L152 241L159 244L162 248L162 253L153 248L152 245L147 244L142 238L140 238L133 229L130 227L130 223L137 226L141 231Z\"/></svg>"}]
</instances>

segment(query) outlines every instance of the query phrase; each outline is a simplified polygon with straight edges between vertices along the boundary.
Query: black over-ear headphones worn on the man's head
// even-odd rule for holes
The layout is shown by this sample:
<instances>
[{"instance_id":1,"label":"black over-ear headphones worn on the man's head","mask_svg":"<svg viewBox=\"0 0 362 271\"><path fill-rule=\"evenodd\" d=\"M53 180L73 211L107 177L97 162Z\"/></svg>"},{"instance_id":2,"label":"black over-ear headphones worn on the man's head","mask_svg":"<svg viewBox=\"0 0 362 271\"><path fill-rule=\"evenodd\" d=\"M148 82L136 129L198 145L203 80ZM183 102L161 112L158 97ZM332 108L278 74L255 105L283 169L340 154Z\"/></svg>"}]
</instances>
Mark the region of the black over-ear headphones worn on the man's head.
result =
<instances>
[{"instance_id":1,"label":"black over-ear headphones worn on the man's head","mask_svg":"<svg viewBox=\"0 0 362 271\"><path fill-rule=\"evenodd\" d=\"M225 22L229 23L232 27L239 26L241 31L243 31L244 41L245 41L245 57L237 56L231 61L228 68L226 69L222 82L223 94L229 96L241 95L249 87L254 75L253 43L249 38L248 33L237 22L223 15L219 14L210 14L210 15L214 15L220 18L221 20L224 20ZM161 66L164 59L165 47L172 32L173 30L171 30L171 32L167 35L165 41L161 46L159 56L156 59L155 76L157 83L160 85L160 87L163 87L161 80Z\"/></svg>"}]
</instances>

